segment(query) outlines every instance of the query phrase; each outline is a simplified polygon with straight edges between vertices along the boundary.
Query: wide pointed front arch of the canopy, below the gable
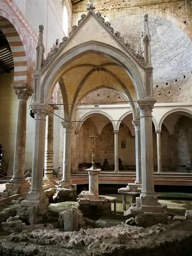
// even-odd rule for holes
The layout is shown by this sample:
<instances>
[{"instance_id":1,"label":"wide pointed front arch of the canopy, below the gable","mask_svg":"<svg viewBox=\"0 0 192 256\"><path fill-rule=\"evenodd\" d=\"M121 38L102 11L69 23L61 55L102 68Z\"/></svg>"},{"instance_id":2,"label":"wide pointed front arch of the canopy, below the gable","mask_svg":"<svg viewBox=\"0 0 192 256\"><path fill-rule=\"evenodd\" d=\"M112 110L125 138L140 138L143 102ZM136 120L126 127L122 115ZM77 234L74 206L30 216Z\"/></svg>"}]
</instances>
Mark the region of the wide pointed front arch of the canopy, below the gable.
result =
<instances>
[{"instance_id":1,"label":"wide pointed front arch of the canopy, below the gable","mask_svg":"<svg viewBox=\"0 0 192 256\"><path fill-rule=\"evenodd\" d=\"M119 63L132 80L136 90L137 99L144 97L143 79L141 77L139 68L134 63L134 61L131 60L124 52L111 45L96 41L89 41L69 49L67 52L60 55L60 57L57 59L55 58L54 62L51 62L51 64L48 64L45 67L47 72L41 84L41 103L49 102L49 98L52 94L52 90L56 81L62 77L62 68L67 66L69 62L72 62L73 60L90 52L104 55L109 59L113 59Z\"/></svg>"}]
</instances>

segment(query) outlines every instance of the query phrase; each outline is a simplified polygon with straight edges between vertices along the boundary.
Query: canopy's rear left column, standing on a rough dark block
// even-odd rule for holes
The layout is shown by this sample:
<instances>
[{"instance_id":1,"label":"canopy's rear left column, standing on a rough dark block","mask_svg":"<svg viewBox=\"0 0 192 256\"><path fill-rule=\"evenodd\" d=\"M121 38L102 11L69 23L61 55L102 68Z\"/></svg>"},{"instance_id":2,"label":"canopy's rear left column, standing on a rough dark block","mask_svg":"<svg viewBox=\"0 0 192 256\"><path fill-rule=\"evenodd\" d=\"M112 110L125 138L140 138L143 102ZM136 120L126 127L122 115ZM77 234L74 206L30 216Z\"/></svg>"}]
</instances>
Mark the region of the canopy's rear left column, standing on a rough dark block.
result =
<instances>
[{"instance_id":1,"label":"canopy's rear left column, standing on a rough dark block","mask_svg":"<svg viewBox=\"0 0 192 256\"><path fill-rule=\"evenodd\" d=\"M70 162L71 162L71 133L73 129L72 122L62 122L64 128L64 150L63 150L63 177L61 187L71 188Z\"/></svg>"}]
</instances>

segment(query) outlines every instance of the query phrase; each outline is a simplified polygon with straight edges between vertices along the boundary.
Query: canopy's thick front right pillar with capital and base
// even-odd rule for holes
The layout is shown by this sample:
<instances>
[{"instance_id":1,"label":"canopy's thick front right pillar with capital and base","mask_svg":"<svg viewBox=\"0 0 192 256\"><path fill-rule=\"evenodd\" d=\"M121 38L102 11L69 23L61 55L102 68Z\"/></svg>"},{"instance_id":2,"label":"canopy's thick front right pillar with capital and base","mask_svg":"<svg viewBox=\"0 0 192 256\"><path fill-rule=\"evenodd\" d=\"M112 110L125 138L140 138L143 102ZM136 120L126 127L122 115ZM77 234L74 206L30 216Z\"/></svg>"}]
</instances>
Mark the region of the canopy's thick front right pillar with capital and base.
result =
<instances>
[{"instance_id":1,"label":"canopy's thick front right pillar with capital and base","mask_svg":"<svg viewBox=\"0 0 192 256\"><path fill-rule=\"evenodd\" d=\"M154 191L154 161L153 161L153 137L152 137L152 109L156 101L137 100L141 122L141 169L142 169L142 210L158 211L157 196ZM145 208L145 209L144 209ZM161 208L161 207L159 207Z\"/></svg>"}]
</instances>

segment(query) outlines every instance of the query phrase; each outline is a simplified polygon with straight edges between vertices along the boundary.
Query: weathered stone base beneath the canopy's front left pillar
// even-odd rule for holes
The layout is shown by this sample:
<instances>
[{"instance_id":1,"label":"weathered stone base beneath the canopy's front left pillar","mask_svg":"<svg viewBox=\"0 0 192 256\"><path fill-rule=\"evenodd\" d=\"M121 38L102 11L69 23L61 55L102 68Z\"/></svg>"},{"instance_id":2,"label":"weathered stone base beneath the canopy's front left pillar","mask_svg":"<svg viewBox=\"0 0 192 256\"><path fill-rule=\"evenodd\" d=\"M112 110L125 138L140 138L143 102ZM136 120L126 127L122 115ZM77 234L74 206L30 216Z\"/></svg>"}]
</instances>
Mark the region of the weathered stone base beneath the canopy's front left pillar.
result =
<instances>
[{"instance_id":1,"label":"weathered stone base beneath the canopy's front left pillar","mask_svg":"<svg viewBox=\"0 0 192 256\"><path fill-rule=\"evenodd\" d=\"M17 215L19 215L23 221L28 221L30 224L38 224L41 222L43 215L47 212L48 205L49 199L43 190L41 193L37 194L30 191L26 196L26 200L20 203L17 209Z\"/></svg>"}]
</instances>

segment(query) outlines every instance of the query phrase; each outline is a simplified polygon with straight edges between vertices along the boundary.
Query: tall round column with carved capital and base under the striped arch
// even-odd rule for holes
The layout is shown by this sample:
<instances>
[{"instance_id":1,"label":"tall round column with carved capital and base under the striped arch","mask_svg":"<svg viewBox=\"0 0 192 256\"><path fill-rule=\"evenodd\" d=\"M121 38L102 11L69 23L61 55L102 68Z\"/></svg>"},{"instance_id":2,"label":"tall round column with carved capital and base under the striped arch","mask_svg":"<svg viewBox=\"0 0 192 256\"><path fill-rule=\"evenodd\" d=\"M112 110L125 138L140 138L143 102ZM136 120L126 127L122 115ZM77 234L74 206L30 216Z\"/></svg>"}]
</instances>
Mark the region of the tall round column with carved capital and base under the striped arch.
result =
<instances>
[{"instance_id":1,"label":"tall round column with carved capital and base under the striped arch","mask_svg":"<svg viewBox=\"0 0 192 256\"><path fill-rule=\"evenodd\" d=\"M29 183L24 177L25 171L25 154L26 154L26 111L27 100L32 95L33 89L26 83L23 85L13 84L13 90L17 94L19 100L17 113L17 128L15 136L15 156L13 177L6 184L6 190L15 191L13 194L25 193L29 190Z\"/></svg>"}]
</instances>

